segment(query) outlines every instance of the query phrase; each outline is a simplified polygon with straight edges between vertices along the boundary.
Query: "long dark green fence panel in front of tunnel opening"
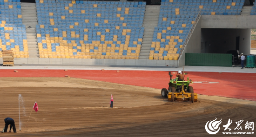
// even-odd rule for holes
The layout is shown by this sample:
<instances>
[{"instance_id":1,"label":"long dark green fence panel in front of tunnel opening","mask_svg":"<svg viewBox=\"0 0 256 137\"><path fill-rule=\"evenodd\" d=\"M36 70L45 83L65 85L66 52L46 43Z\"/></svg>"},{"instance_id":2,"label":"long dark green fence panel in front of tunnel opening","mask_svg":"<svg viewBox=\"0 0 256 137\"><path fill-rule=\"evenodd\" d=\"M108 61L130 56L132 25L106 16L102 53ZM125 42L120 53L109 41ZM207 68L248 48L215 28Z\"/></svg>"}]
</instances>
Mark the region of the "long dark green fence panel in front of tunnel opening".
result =
<instances>
[{"instance_id":1,"label":"long dark green fence panel in front of tunnel opening","mask_svg":"<svg viewBox=\"0 0 256 137\"><path fill-rule=\"evenodd\" d=\"M185 65L232 66L232 54L186 53Z\"/></svg>"}]
</instances>

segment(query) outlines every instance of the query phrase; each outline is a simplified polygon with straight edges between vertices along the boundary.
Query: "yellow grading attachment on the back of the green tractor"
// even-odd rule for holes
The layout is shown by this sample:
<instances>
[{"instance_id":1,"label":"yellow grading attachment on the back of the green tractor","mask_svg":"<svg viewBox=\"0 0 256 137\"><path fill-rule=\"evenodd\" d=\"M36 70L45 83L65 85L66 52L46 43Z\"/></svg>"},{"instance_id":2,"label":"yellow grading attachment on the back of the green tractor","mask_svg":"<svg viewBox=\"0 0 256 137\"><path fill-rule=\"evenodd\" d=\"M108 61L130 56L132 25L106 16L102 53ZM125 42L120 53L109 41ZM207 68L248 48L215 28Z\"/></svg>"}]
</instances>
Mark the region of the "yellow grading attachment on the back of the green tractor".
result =
<instances>
[{"instance_id":1,"label":"yellow grading attachment on the back of the green tractor","mask_svg":"<svg viewBox=\"0 0 256 137\"><path fill-rule=\"evenodd\" d=\"M169 92L168 101L184 101L184 102L197 102L197 94L184 91L184 85L182 85L181 92Z\"/></svg>"}]
</instances>

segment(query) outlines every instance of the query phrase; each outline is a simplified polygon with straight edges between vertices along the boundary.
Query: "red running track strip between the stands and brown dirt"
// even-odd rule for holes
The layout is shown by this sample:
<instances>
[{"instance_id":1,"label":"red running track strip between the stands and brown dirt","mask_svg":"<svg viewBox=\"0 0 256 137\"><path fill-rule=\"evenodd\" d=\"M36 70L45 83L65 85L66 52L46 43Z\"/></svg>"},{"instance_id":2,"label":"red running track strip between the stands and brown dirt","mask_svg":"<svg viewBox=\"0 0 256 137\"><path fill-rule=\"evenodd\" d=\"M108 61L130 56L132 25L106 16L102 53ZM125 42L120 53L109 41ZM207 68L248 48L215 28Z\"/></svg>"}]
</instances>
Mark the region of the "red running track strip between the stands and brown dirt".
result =
<instances>
[{"instance_id":1,"label":"red running track strip between the stands and brown dirt","mask_svg":"<svg viewBox=\"0 0 256 137\"><path fill-rule=\"evenodd\" d=\"M0 70L0 77L64 77L84 78L105 82L136 85L152 88L168 88L169 76L164 71L101 71L101 70ZM231 72L188 72L186 77L194 82L195 93L239 98L256 101L256 73L231 73ZM159 95L160 95L159 90Z\"/></svg>"}]
</instances>

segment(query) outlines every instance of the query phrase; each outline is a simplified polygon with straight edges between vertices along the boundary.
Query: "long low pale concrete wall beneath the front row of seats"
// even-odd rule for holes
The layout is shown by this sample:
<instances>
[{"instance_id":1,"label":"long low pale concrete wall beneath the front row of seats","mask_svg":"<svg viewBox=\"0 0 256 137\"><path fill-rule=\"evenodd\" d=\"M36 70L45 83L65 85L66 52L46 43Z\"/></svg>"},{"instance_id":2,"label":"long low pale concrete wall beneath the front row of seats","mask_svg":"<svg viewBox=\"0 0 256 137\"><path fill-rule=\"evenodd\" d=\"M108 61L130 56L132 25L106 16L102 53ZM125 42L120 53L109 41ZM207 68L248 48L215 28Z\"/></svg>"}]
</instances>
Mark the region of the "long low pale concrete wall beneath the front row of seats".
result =
<instances>
[{"instance_id":1,"label":"long low pale concrete wall beneath the front row of seats","mask_svg":"<svg viewBox=\"0 0 256 137\"><path fill-rule=\"evenodd\" d=\"M3 60L0 58L0 63ZM14 58L14 65L131 65L131 66L170 66L177 67L177 60L149 59L47 59L47 58Z\"/></svg>"}]
</instances>

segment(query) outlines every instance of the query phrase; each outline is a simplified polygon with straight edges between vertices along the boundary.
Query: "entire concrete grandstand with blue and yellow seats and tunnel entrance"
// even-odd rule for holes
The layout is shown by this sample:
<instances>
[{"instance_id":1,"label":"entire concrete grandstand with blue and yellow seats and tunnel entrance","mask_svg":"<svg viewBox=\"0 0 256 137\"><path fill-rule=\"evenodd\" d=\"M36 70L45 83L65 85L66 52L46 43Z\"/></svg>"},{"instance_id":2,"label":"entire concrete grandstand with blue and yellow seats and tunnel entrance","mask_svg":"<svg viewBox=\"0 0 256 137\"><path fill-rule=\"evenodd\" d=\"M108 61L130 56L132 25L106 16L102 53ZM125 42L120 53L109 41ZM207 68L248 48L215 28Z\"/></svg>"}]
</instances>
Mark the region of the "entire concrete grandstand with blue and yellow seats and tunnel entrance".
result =
<instances>
[{"instance_id":1,"label":"entire concrete grandstand with blue and yellow seats and tunnel entrance","mask_svg":"<svg viewBox=\"0 0 256 137\"><path fill-rule=\"evenodd\" d=\"M254 0L0 0L0 12L16 64L177 67L186 53L249 55L256 28Z\"/></svg>"}]
</instances>

